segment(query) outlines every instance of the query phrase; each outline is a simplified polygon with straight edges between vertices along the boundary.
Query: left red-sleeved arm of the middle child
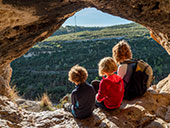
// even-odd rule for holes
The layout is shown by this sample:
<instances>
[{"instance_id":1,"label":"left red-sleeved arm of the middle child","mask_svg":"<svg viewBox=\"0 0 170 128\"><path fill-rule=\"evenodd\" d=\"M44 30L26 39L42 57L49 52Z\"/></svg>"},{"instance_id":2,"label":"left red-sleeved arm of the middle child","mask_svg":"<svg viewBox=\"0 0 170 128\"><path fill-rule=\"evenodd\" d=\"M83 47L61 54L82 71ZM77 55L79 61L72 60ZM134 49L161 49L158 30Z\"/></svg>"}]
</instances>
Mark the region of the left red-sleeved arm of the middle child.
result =
<instances>
[{"instance_id":1,"label":"left red-sleeved arm of the middle child","mask_svg":"<svg viewBox=\"0 0 170 128\"><path fill-rule=\"evenodd\" d=\"M97 102L102 102L105 97L106 97L106 85L105 85L105 81L101 80L100 84L99 84L99 91L98 94L96 95L96 100Z\"/></svg>"}]
</instances>

